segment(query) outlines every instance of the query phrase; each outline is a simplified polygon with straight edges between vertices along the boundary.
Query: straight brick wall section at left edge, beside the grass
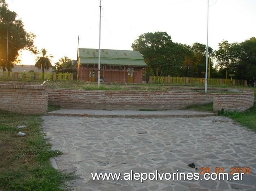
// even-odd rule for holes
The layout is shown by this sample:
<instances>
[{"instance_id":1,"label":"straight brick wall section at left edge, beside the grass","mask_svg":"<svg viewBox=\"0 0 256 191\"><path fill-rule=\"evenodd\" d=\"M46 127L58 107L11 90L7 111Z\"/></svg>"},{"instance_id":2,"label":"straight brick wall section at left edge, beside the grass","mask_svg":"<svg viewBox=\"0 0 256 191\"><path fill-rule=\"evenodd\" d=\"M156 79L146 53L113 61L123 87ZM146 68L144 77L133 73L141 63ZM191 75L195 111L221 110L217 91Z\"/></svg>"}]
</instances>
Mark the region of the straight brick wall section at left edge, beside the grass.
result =
<instances>
[{"instance_id":1,"label":"straight brick wall section at left edge, beside the grass","mask_svg":"<svg viewBox=\"0 0 256 191\"><path fill-rule=\"evenodd\" d=\"M47 86L0 84L0 109L25 114L47 112Z\"/></svg>"}]
</instances>

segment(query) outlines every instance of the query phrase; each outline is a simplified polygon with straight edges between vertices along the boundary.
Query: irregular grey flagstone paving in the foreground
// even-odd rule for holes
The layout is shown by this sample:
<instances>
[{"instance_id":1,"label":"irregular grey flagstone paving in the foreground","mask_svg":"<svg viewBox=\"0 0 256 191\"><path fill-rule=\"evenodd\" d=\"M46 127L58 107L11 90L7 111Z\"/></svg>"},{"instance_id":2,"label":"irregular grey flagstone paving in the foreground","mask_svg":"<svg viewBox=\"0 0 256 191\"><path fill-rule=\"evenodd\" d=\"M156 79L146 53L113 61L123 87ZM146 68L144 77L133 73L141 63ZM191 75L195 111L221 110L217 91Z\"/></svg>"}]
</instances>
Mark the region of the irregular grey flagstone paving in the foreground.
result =
<instances>
[{"instance_id":1,"label":"irregular grey flagstone paving in the foreground","mask_svg":"<svg viewBox=\"0 0 256 191\"><path fill-rule=\"evenodd\" d=\"M226 117L89 118L44 116L59 169L75 171L75 190L256 190L256 133ZM187 166L195 163L195 167ZM200 172L250 167L243 181L93 181L91 172Z\"/></svg>"}]
</instances>

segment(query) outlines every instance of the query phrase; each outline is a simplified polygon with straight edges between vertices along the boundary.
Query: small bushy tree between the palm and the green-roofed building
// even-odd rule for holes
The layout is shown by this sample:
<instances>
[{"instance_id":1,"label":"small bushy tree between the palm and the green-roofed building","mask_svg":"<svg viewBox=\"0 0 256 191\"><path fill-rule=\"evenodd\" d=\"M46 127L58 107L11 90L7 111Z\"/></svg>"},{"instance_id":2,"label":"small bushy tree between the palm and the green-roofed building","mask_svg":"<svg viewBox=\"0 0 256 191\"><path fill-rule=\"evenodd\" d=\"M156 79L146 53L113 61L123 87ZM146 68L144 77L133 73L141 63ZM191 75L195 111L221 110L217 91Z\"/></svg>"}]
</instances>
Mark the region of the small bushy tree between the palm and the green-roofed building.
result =
<instances>
[{"instance_id":1,"label":"small bushy tree between the palm and the green-roofed building","mask_svg":"<svg viewBox=\"0 0 256 191\"><path fill-rule=\"evenodd\" d=\"M72 65L72 59L67 56L64 56L59 59L58 62L55 63L54 70L55 71L63 71L63 72L74 72L76 66Z\"/></svg>"}]
</instances>

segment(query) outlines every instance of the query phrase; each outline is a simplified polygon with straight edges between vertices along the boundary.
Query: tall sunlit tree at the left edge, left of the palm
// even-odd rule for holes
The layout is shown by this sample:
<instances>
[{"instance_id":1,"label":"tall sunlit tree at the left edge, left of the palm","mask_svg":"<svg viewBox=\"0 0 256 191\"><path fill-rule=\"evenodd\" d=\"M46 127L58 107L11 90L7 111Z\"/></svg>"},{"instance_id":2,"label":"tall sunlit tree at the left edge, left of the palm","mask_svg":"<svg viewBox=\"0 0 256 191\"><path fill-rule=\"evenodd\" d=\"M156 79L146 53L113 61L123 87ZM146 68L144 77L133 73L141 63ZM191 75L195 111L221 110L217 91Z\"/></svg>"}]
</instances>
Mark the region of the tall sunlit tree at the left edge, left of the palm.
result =
<instances>
[{"instance_id":1,"label":"tall sunlit tree at the left edge, left of the palm","mask_svg":"<svg viewBox=\"0 0 256 191\"><path fill-rule=\"evenodd\" d=\"M8 29L8 70L18 61L19 51L28 50L36 53L35 35L27 33L21 19L8 9L5 0L0 0L0 68L6 71L6 47Z\"/></svg>"}]
</instances>

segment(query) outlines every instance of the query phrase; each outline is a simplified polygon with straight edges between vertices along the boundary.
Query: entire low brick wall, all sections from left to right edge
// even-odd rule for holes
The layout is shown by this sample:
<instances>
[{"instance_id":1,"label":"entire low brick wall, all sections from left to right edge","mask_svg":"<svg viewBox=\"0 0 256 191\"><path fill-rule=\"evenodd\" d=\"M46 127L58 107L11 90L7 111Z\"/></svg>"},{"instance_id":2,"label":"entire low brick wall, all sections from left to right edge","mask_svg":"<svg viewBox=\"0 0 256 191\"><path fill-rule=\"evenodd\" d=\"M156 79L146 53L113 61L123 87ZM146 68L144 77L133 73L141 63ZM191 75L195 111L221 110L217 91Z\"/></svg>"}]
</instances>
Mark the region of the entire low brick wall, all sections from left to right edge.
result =
<instances>
[{"instance_id":1,"label":"entire low brick wall, all sections from left to right edge","mask_svg":"<svg viewBox=\"0 0 256 191\"><path fill-rule=\"evenodd\" d=\"M222 108L244 111L253 106L253 92L236 91L242 93L47 89L47 86L40 85L0 84L0 109L43 114L47 112L48 103L63 108L101 110L175 110L210 102L213 102L215 111Z\"/></svg>"}]
</instances>

